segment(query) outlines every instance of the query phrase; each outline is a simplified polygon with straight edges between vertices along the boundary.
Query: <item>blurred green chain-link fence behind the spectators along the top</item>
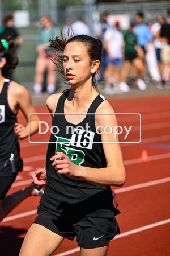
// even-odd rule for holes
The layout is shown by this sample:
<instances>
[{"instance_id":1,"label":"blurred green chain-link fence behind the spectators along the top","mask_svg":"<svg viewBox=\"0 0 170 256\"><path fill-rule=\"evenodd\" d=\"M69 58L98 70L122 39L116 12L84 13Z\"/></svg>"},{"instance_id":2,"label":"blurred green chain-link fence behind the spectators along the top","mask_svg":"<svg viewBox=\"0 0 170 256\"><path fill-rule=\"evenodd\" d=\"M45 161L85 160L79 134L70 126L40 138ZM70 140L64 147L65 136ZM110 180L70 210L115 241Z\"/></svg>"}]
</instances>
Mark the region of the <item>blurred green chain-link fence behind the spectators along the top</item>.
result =
<instances>
[{"instance_id":1,"label":"blurred green chain-link fence behind the spectators along the top","mask_svg":"<svg viewBox=\"0 0 170 256\"><path fill-rule=\"evenodd\" d=\"M145 22L155 22L158 15L166 15L169 1L139 3L96 3L95 0L0 0L0 16L13 15L16 30L22 35L24 44L18 50L19 65L14 72L14 80L32 89L35 76L36 42L40 29L40 18L49 15L59 29L66 18L73 21L82 16L93 34L94 23L102 13L128 15L134 19L138 11L145 14ZM1 23L2 26L2 23ZM58 77L57 83L61 79Z\"/></svg>"}]
</instances>

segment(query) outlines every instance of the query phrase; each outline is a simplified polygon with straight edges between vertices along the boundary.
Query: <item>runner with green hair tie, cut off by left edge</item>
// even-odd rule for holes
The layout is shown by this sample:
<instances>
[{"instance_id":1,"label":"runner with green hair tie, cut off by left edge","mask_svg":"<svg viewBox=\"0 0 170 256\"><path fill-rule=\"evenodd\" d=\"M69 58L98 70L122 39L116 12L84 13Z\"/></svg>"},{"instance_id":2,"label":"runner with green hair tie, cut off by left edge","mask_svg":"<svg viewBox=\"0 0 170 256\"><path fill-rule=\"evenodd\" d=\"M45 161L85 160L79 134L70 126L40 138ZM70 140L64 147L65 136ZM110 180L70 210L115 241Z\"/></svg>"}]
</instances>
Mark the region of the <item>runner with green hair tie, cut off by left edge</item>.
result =
<instances>
[{"instance_id":1,"label":"runner with green hair tie, cut off by left edge","mask_svg":"<svg viewBox=\"0 0 170 256\"><path fill-rule=\"evenodd\" d=\"M35 195L32 185L6 196L23 163L20 159L19 139L28 137L39 128L39 117L31 115L30 123L18 123L18 110L22 110L28 122L29 114L36 113L29 92L24 86L6 79L9 71L18 65L18 58L11 49L12 40L0 41L0 221L25 198ZM29 127L28 127L29 126ZM40 193L39 193L40 195Z\"/></svg>"}]
</instances>

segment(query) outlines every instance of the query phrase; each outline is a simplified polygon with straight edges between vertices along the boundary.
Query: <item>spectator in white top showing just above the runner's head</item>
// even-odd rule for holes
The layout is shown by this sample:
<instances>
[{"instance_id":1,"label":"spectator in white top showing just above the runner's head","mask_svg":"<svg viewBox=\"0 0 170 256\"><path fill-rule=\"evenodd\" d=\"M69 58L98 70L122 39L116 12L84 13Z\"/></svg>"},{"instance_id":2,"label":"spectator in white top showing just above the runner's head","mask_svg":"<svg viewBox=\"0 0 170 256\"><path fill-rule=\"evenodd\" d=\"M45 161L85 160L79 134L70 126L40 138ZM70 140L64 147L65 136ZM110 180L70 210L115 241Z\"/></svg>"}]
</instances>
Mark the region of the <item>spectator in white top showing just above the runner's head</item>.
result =
<instances>
[{"instance_id":1,"label":"spectator in white top showing just above the runner's head","mask_svg":"<svg viewBox=\"0 0 170 256\"><path fill-rule=\"evenodd\" d=\"M83 22L82 16L72 24L74 35L90 35L90 29L86 23Z\"/></svg>"}]
</instances>

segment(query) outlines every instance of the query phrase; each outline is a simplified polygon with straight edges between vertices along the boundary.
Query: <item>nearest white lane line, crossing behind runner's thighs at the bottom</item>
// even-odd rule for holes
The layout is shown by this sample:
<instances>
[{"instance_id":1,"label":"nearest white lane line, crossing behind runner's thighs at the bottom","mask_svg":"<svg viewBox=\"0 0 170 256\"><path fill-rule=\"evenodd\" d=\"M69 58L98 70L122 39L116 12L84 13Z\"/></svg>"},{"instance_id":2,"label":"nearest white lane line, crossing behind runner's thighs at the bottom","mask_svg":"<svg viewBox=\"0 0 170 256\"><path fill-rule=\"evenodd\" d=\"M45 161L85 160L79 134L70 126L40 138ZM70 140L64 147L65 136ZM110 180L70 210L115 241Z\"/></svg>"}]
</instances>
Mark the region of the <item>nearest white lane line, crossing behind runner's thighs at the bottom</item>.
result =
<instances>
[{"instance_id":1,"label":"nearest white lane line, crossing behind runner's thighs at the bottom","mask_svg":"<svg viewBox=\"0 0 170 256\"><path fill-rule=\"evenodd\" d=\"M122 238L122 237L126 237L126 236L130 236L131 234L136 234L138 232L142 232L142 231L145 231L147 229L152 229L152 228L155 228L156 226L162 226L162 225L168 224L169 222L170 222L170 218L168 218L167 220L155 222L155 223L150 224L150 225L141 226L141 228L132 229L128 232L124 232L120 235L117 235L116 237L114 237L113 240L118 239L118 238ZM63 253L59 253L59 254L56 254L54 256L66 256L66 255L70 255L70 254L73 254L73 253L77 253L79 250L80 250L80 248L76 247L74 249L71 249L69 251L64 251Z\"/></svg>"}]
</instances>

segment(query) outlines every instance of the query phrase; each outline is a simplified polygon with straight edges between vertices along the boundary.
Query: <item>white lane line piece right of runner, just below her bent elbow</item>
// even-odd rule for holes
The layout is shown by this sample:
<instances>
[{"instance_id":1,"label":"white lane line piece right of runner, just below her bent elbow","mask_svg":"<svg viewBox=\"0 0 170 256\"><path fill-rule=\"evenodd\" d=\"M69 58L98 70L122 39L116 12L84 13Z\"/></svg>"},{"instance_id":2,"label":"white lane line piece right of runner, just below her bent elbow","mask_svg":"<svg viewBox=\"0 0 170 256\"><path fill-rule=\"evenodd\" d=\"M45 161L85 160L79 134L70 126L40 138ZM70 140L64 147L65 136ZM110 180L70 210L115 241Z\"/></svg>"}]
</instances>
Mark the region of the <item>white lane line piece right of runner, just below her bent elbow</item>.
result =
<instances>
[{"instance_id":1,"label":"white lane line piece right of runner, just below her bent elbow","mask_svg":"<svg viewBox=\"0 0 170 256\"><path fill-rule=\"evenodd\" d=\"M117 188L117 189L115 189L115 192L116 192L116 194L128 192L128 191L132 191L132 190L139 189L139 188L147 188L147 187L151 187L154 185L163 184L163 183L166 183L169 181L170 181L170 177L166 177L164 179L152 180L152 181L148 181L148 182L137 184L137 185L131 185L131 186L125 187L125 188Z\"/></svg>"}]
</instances>

